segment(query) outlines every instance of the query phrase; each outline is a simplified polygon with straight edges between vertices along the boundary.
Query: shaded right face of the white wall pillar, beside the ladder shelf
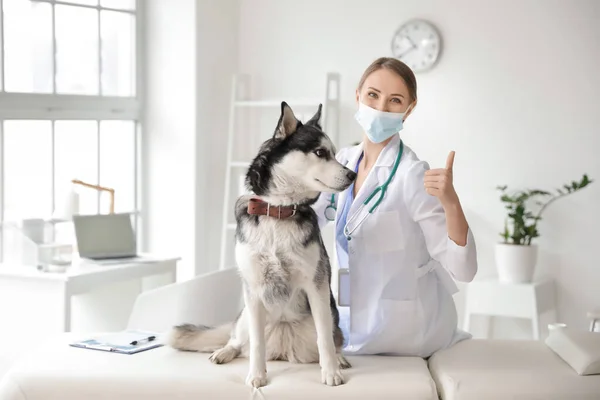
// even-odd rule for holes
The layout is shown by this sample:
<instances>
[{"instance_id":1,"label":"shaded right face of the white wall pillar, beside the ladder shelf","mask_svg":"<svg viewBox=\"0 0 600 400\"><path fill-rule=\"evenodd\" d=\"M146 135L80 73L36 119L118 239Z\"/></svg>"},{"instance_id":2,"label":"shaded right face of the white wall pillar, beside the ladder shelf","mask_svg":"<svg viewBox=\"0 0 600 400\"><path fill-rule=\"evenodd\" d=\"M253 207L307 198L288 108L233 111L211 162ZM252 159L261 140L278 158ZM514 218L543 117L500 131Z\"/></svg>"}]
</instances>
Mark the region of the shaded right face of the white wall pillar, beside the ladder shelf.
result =
<instances>
[{"instance_id":1,"label":"shaded right face of the white wall pillar, beside the ladder shelf","mask_svg":"<svg viewBox=\"0 0 600 400\"><path fill-rule=\"evenodd\" d=\"M232 75L238 66L239 0L199 0L196 271L218 268ZM202 185L202 182L204 184Z\"/></svg>"}]
</instances>

